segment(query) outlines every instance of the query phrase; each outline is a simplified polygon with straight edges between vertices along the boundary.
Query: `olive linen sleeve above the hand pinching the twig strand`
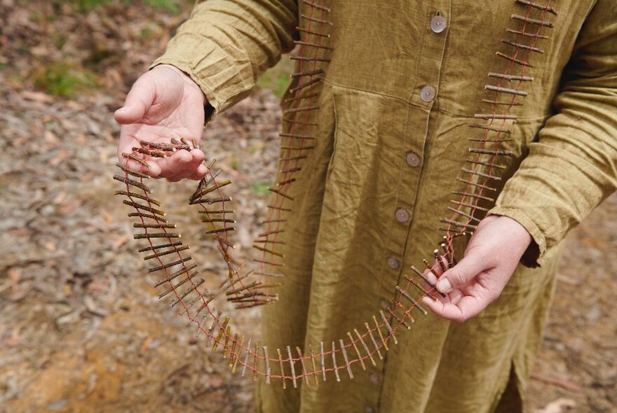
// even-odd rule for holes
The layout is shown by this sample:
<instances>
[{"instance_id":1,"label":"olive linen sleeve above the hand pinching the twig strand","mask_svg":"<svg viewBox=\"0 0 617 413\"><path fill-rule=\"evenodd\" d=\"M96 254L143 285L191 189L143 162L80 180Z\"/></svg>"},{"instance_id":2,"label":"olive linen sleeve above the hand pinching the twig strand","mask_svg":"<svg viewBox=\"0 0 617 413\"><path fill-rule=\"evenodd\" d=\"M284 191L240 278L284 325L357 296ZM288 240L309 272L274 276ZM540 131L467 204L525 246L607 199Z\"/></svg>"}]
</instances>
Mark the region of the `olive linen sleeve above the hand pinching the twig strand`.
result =
<instances>
[{"instance_id":1,"label":"olive linen sleeve above the hand pinching the twig strand","mask_svg":"<svg viewBox=\"0 0 617 413\"><path fill-rule=\"evenodd\" d=\"M523 263L532 267L617 188L617 7L611 1L598 1L585 21L553 104L555 114L489 211L529 231L535 245Z\"/></svg>"}]
</instances>

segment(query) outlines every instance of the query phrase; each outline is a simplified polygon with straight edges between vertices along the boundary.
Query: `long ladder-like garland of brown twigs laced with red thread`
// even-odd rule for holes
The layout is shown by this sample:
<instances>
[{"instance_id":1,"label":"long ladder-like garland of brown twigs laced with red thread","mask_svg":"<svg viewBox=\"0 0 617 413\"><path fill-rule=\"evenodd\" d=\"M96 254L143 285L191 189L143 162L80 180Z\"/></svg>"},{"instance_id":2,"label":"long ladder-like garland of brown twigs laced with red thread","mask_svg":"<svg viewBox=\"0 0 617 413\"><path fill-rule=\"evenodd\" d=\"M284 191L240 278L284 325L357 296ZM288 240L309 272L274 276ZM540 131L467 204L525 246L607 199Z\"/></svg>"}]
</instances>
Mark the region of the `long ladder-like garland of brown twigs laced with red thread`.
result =
<instances>
[{"instance_id":1,"label":"long ladder-like garland of brown twigs laced with red thread","mask_svg":"<svg viewBox=\"0 0 617 413\"><path fill-rule=\"evenodd\" d=\"M160 290L158 297L170 297L170 307L179 308L179 314L187 318L196 335L205 336L206 346L212 346L212 350L219 351L223 358L229 358L232 372L239 367L242 377L246 374L250 374L253 380L264 377L268 384L280 381L284 388L288 384L297 387L302 381L305 385L317 385L328 379L353 378L353 367L360 366L365 370L366 363L375 365L376 358L383 359L385 351L398 343L396 334L401 326L409 329L415 316L427 314L419 304L420 298L427 296L436 300L436 295L440 294L431 281L433 277L427 274L435 274L435 265L445 271L456 263L453 240L471 235L494 202L496 188L493 185L502 180L501 172L505 169L499 158L513 155L501 144L512 139L513 131L508 125L516 120L514 109L520 107L520 100L527 96L524 85L534 80L528 73L533 68L531 56L543 53L538 43L548 38L543 31L553 25L548 20L550 15L557 15L550 0L543 4L515 0L520 11L512 15L511 27L504 31L499 42L501 48L496 52L503 59L504 66L488 73L489 81L484 85L487 97L482 99L487 110L477 113L478 122L469 125L470 130L478 135L469 139L473 146L468 151L468 165L454 179L452 205L447 208L449 216L440 220L445 224L442 229L445 235L438 242L442 251L433 251L435 265L430 265L427 260L424 260L424 270L412 265L412 275L404 274L407 282L395 286L391 303L377 309L371 319L353 329L353 334L351 331L341 332L340 337L332 337L331 342L315 343L314 348L308 346L304 351L299 347L283 346L283 350L277 348L276 352L269 352L268 346L236 331L231 316L215 309L212 301L224 297L237 309L243 309L275 302L278 297L273 293L278 284L266 280L278 279L284 274L283 254L277 251L277 246L282 243L278 236L285 230L285 216L293 208L290 188L296 180L294 174L302 169L302 161L313 148L311 142L316 139L317 125L311 122L315 118L312 112L319 111L320 86L332 50L329 45L332 27L329 6L318 0L303 0L302 3L308 11L300 15L303 25L297 28L301 35L296 41L298 54L292 56L297 61L297 71L292 73L295 83L290 89L292 96L287 98L290 107L283 114L286 126L285 132L280 134L283 139L280 179L270 188L273 197L269 215L264 222L264 232L255 240L255 249L260 254L254 263L257 268L234 265L231 259L234 244L230 235L236 230L233 209L229 207L232 199L226 195L231 182L217 179L220 171L214 168L215 160L207 164L207 176L198 183L188 200L189 204L198 207L201 221L207 228L205 233L215 240L226 262L224 281L215 282L210 290L205 286L211 282L207 283L199 276L198 265L191 255L187 255L189 246L175 231L177 226L165 218L161 203L152 197L151 189L145 183L148 176L128 169L129 160L147 167L144 155L165 157L181 149L191 150L197 147L195 141L171 139L169 144L141 141L131 153L123 154L126 162L118 164L123 173L114 175L114 179L124 185L116 195L126 197L123 203L134 209L128 214L136 218L133 227L139 232L134 237L147 243L139 251L145 254L144 260L153 262L148 272L161 274L154 283L154 287Z\"/></svg>"}]
</instances>

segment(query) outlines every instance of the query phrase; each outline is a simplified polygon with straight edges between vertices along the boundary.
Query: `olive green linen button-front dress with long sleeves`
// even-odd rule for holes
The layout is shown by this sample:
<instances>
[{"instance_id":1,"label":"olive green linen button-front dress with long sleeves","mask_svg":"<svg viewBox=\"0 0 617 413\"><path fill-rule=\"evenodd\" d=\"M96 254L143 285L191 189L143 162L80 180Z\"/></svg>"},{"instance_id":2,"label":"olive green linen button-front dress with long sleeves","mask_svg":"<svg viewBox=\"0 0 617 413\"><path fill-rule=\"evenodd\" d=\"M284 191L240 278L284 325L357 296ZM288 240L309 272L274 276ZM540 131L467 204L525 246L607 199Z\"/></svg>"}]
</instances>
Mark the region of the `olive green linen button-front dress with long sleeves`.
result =
<instances>
[{"instance_id":1,"label":"olive green linen button-front dress with long sleeves","mask_svg":"<svg viewBox=\"0 0 617 413\"><path fill-rule=\"evenodd\" d=\"M294 176L280 302L264 308L273 349L361 328L409 265L430 258L465 166L467 124L486 110L487 73L506 64L496 52L509 50L501 39L511 15L526 10L515 0L326 3L333 50L309 117L317 139ZM532 56L534 81L507 123L513 140L503 148L514 156L502 162L509 179L490 211L527 228L539 267L520 265L470 321L416 317L377 367L355 365L353 380L286 390L259 381L260 412L522 410L562 239L617 186L617 2L550 5L554 28L541 31L549 37ZM204 1L154 64L188 73L215 116L250 94L294 38L306 38L296 27L310 9L306 1Z\"/></svg>"}]
</instances>

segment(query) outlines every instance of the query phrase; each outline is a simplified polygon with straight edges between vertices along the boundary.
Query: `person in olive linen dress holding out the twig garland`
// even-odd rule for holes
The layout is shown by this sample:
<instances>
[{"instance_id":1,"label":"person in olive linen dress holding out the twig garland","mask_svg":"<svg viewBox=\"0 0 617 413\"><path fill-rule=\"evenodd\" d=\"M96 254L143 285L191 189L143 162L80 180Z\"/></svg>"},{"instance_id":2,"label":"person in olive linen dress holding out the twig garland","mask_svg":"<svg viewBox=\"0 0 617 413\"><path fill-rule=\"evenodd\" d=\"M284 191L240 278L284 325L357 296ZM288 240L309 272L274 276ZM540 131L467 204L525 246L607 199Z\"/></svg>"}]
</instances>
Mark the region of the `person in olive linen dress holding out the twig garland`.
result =
<instances>
[{"instance_id":1,"label":"person in olive linen dress holding out the twig garland","mask_svg":"<svg viewBox=\"0 0 617 413\"><path fill-rule=\"evenodd\" d=\"M454 216L464 204L486 215L464 224L475 234L439 279L445 297L425 301L436 316L416 317L353 380L260 381L259 411L522 411L561 241L617 186L616 22L609 0L196 6L116 112L118 153L134 139L201 137L296 39L278 177L294 169L294 184L273 199L293 213L278 238L280 302L264 310L269 345L306 349L362 328L428 258L452 202ZM503 167L486 185L464 177L468 138L483 137L499 144L488 174ZM149 173L201 179L202 161L179 151ZM478 185L484 198L469 192Z\"/></svg>"}]
</instances>

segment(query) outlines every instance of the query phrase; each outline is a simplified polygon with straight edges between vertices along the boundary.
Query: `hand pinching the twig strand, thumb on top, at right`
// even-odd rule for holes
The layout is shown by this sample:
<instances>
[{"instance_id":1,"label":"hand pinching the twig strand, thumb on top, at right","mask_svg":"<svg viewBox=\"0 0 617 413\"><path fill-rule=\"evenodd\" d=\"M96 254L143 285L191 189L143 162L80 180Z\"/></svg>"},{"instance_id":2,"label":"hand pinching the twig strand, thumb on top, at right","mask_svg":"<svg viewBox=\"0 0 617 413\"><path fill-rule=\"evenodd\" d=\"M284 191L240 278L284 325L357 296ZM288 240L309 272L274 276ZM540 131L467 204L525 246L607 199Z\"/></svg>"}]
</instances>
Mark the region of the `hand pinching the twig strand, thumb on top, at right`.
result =
<instances>
[{"instance_id":1,"label":"hand pinching the twig strand, thumb on top, at right","mask_svg":"<svg viewBox=\"0 0 617 413\"><path fill-rule=\"evenodd\" d=\"M430 280L437 281L437 289L446 297L437 301L424 297L422 301L438 316L459 323L479 314L501 295L530 242L529 232L512 218L484 218L463 259L438 281Z\"/></svg>"}]
</instances>

